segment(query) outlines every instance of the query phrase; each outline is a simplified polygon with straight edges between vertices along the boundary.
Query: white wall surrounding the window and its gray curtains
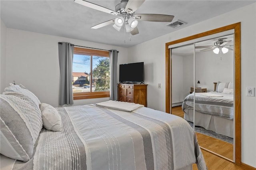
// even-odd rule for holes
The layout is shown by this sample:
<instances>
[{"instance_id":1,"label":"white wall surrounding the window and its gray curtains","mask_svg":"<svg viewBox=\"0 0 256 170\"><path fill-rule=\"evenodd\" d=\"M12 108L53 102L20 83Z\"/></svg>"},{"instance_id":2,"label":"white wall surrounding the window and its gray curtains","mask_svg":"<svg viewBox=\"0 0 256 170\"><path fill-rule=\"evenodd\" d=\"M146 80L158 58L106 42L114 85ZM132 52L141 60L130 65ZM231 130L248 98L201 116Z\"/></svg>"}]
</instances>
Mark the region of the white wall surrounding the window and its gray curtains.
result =
<instances>
[{"instance_id":1,"label":"white wall surrounding the window and its gray curtains","mask_svg":"<svg viewBox=\"0 0 256 170\"><path fill-rule=\"evenodd\" d=\"M118 64L127 62L127 48L7 28L5 86L15 80L16 84L22 84L32 91L42 103L58 107L58 42L100 49L117 49ZM74 105L107 100L109 98L75 100Z\"/></svg>"}]
</instances>

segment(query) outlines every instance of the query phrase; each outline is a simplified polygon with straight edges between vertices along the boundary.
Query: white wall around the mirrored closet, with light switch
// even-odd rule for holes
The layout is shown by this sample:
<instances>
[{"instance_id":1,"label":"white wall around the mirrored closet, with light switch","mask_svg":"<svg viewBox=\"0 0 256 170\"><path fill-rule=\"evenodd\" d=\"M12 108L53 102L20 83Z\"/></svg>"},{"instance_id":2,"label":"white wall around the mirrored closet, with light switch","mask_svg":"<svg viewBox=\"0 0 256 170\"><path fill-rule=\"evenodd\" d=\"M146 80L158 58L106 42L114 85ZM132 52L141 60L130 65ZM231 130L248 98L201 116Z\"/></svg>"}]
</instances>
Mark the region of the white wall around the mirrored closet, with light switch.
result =
<instances>
[{"instance_id":1,"label":"white wall around the mirrored closet, with light switch","mask_svg":"<svg viewBox=\"0 0 256 170\"><path fill-rule=\"evenodd\" d=\"M256 167L256 99L246 96L246 87L256 86L256 3L177 30L129 48L129 62L146 63L148 107L165 111L165 43L222 26L241 22L241 128L242 162ZM172 28L170 28L172 29ZM161 89L158 89L161 83Z\"/></svg>"}]
</instances>

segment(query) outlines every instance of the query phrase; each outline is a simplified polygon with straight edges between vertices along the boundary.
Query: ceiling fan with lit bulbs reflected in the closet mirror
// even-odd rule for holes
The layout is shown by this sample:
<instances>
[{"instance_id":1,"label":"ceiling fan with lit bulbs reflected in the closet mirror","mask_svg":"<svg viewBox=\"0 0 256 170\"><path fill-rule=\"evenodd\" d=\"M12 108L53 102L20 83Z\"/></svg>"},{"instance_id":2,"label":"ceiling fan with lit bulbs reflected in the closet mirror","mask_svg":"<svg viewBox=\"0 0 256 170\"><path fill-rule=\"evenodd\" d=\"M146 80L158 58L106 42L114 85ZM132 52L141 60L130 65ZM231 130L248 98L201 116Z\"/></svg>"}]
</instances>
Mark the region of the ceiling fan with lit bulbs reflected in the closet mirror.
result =
<instances>
[{"instance_id":1,"label":"ceiling fan with lit bulbs reflected in the closet mirror","mask_svg":"<svg viewBox=\"0 0 256 170\"><path fill-rule=\"evenodd\" d=\"M206 48L206 49L202 49L200 51L212 50L216 54L218 54L220 52L220 50L222 51L222 53L227 53L228 50L233 50L232 48L230 48L233 45L227 45L232 40L225 41L225 39L227 39L227 38L218 38L217 41L214 42L214 45L196 46L195 48Z\"/></svg>"}]
</instances>

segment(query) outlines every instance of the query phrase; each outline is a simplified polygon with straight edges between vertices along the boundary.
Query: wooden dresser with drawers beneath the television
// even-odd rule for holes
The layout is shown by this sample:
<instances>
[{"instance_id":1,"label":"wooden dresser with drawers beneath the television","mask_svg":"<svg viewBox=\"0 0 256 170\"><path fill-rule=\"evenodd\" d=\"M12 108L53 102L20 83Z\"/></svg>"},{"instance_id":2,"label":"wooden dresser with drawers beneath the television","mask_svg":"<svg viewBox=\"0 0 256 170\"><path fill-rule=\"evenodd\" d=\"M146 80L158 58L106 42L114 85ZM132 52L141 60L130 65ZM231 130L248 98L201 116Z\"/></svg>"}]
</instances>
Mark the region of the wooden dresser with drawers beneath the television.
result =
<instances>
[{"instance_id":1,"label":"wooden dresser with drawers beneath the television","mask_svg":"<svg viewBox=\"0 0 256 170\"><path fill-rule=\"evenodd\" d=\"M118 101L147 107L147 84L118 84Z\"/></svg>"}]
</instances>

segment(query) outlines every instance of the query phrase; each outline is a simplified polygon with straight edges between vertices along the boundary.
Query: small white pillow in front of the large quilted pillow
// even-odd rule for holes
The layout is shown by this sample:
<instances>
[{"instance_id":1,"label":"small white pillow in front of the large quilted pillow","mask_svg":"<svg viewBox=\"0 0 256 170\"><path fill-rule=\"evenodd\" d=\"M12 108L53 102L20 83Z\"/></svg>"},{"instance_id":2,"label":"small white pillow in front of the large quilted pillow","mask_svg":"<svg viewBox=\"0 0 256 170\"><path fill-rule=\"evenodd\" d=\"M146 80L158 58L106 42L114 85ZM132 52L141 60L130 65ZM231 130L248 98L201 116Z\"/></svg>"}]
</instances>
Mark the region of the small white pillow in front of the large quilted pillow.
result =
<instances>
[{"instance_id":1,"label":"small white pillow in front of the large quilted pillow","mask_svg":"<svg viewBox=\"0 0 256 170\"><path fill-rule=\"evenodd\" d=\"M61 117L58 111L49 104L41 103L43 126L47 130L61 131Z\"/></svg>"}]
</instances>

